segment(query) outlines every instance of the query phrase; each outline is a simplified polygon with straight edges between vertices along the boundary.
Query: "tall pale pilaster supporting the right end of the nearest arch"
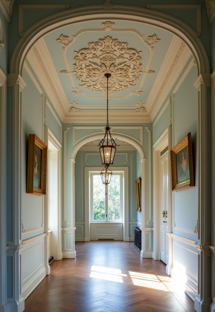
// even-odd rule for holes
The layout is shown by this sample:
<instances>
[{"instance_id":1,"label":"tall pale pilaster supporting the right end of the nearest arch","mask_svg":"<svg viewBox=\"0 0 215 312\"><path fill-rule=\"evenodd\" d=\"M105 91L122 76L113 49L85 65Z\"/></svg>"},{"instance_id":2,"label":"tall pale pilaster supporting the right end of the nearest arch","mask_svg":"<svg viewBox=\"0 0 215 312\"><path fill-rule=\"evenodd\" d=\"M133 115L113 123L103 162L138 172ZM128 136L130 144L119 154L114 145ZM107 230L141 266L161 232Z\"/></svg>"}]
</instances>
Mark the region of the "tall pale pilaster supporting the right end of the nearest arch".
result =
<instances>
[{"instance_id":1,"label":"tall pale pilaster supporting the right end of the nearest arch","mask_svg":"<svg viewBox=\"0 0 215 312\"><path fill-rule=\"evenodd\" d=\"M211 86L211 75L199 75L194 86L198 90L198 294L194 301L197 312L209 310L211 283L209 263L211 253L207 235L207 88Z\"/></svg>"}]
</instances>

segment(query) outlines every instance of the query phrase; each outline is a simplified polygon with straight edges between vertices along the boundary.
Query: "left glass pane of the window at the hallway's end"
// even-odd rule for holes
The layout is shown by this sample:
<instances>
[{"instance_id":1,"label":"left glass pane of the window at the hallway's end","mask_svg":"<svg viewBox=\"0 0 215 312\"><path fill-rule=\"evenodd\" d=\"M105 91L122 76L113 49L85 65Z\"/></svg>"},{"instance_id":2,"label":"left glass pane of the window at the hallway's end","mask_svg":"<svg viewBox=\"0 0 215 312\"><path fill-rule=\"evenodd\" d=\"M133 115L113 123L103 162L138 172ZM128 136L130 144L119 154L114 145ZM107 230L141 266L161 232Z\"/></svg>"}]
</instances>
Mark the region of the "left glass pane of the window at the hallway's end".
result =
<instances>
[{"instance_id":1,"label":"left glass pane of the window at the hallway's end","mask_svg":"<svg viewBox=\"0 0 215 312\"><path fill-rule=\"evenodd\" d=\"M93 220L105 220L105 185L100 174L93 175Z\"/></svg>"}]
</instances>

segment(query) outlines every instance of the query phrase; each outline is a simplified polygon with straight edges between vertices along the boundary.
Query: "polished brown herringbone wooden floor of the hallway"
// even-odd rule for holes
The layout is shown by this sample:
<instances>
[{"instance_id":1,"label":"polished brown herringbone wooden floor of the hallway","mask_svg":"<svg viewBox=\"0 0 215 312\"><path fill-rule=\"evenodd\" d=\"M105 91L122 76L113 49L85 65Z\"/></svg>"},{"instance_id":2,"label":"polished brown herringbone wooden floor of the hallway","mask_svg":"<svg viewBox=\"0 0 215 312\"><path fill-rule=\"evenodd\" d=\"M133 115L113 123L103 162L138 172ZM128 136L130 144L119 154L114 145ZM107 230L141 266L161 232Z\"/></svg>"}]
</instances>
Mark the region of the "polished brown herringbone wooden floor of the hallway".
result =
<instances>
[{"instance_id":1,"label":"polished brown herringbone wooden floor of the hallway","mask_svg":"<svg viewBox=\"0 0 215 312\"><path fill-rule=\"evenodd\" d=\"M133 242L76 243L77 257L51 273L25 300L25 312L193 312L184 293L171 292L161 261L142 259Z\"/></svg>"}]
</instances>

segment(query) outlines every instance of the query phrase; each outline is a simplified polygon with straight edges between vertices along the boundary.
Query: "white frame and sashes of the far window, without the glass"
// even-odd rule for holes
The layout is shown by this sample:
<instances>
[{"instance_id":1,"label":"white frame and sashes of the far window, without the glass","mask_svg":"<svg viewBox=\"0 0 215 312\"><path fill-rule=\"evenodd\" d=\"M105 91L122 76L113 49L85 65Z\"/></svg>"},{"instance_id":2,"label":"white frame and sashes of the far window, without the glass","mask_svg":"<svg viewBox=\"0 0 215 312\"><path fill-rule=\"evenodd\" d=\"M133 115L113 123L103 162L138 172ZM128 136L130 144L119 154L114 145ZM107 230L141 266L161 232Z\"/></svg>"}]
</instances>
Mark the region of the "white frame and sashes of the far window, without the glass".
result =
<instances>
[{"instance_id":1,"label":"white frame and sashes of the far window, without the glass","mask_svg":"<svg viewBox=\"0 0 215 312\"><path fill-rule=\"evenodd\" d=\"M124 192L124 172L116 172L112 170L112 176L113 175L119 175L120 176L120 219L119 220L108 220L108 217L105 217L105 220L93 220L93 176L94 175L99 175L100 176L101 171L97 172L89 172L89 178L90 178L90 220L91 223L116 223L116 222L123 222L123 192ZM102 183L102 178L101 178L101 183ZM110 182L111 183L111 182ZM105 185L105 193L107 195L105 196L105 215L108 214L108 185Z\"/></svg>"}]
</instances>

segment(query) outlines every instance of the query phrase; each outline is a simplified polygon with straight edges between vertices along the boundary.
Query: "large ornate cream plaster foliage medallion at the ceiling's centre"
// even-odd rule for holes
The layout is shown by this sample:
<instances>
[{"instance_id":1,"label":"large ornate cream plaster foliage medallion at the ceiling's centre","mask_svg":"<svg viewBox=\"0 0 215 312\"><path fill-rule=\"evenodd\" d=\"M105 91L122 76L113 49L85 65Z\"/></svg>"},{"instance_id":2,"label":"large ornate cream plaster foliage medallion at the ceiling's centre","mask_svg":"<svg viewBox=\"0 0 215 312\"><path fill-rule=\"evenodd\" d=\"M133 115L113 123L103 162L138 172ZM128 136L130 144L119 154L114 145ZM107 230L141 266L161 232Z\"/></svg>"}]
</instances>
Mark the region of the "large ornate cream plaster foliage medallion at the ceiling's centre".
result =
<instances>
[{"instance_id":1,"label":"large ornate cream plaster foliage medallion at the ceiling's centre","mask_svg":"<svg viewBox=\"0 0 215 312\"><path fill-rule=\"evenodd\" d=\"M77 56L74 58L74 73L81 86L106 94L106 72L111 74L109 94L135 85L142 72L141 51L128 48L127 42L120 42L109 36L90 42L88 46L75 51Z\"/></svg>"}]
</instances>

